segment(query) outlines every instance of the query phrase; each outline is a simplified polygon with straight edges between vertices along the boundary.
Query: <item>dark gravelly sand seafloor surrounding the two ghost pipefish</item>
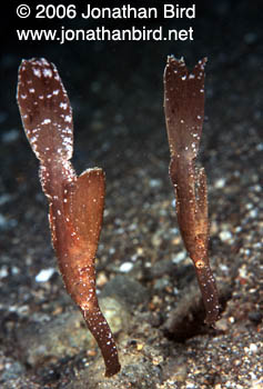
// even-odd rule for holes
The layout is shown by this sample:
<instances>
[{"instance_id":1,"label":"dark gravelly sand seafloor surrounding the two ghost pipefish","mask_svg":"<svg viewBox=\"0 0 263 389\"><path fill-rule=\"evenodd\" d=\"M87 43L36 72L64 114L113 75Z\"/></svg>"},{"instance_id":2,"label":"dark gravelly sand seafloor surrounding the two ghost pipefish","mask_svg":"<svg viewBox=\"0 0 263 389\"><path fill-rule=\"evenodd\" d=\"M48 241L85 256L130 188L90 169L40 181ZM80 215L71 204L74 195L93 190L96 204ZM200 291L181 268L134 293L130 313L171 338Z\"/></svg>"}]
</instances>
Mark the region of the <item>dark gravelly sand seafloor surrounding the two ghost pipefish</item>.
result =
<instances>
[{"instance_id":1,"label":"dark gravelly sand seafloor surrounding the two ghost pipefish","mask_svg":"<svg viewBox=\"0 0 263 389\"><path fill-rule=\"evenodd\" d=\"M18 43L11 8L11 19L1 16L0 387L263 388L262 1L200 2L191 22L155 21L193 26L193 42ZM162 76L171 53L190 68L209 58L199 163L222 306L215 329L203 325L168 176ZM32 57L54 62L68 90L75 170L99 166L107 174L97 269L122 365L111 379L57 270L38 161L16 103L18 66Z\"/></svg>"}]
</instances>

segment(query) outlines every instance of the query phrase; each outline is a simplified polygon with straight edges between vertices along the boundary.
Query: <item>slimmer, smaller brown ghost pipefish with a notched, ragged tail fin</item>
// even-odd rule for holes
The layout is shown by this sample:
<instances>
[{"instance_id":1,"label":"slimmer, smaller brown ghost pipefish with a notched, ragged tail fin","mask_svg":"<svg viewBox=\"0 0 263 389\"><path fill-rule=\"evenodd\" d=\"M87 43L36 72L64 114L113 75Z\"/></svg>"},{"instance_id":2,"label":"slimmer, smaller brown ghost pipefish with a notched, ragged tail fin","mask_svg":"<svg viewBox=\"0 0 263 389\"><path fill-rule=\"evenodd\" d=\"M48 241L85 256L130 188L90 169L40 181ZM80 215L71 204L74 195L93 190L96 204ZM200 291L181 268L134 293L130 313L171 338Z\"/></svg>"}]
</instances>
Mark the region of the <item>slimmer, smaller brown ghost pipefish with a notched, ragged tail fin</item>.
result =
<instances>
[{"instance_id":1,"label":"slimmer, smaller brown ghost pipefish with a notched, ragged tail fin","mask_svg":"<svg viewBox=\"0 0 263 389\"><path fill-rule=\"evenodd\" d=\"M192 72L183 59L168 58L164 70L164 113L171 161L170 179L176 199L176 216L184 246L193 260L206 311L205 322L219 318L219 296L209 261L206 176L195 167L204 117L204 66Z\"/></svg>"}]
</instances>

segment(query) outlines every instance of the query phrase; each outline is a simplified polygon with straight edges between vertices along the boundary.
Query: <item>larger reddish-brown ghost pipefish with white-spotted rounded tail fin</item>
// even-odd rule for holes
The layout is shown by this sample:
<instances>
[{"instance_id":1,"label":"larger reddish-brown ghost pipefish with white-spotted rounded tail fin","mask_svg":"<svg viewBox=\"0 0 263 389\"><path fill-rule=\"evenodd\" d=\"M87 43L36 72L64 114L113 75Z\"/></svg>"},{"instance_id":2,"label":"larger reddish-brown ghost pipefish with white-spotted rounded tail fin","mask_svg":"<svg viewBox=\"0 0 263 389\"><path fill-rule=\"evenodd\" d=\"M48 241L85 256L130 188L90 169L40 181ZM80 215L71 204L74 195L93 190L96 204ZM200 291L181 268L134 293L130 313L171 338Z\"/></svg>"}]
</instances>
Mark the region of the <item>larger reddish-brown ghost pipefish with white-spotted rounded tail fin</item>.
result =
<instances>
[{"instance_id":1,"label":"larger reddish-brown ghost pipefish with white-spotted rounded tail fin","mask_svg":"<svg viewBox=\"0 0 263 389\"><path fill-rule=\"evenodd\" d=\"M49 201L52 243L65 289L78 305L105 363L105 376L120 370L110 327L95 293L94 259L102 227L104 172L79 177L73 152L72 110L55 67L45 59L23 60L18 104L29 143L40 161L40 181Z\"/></svg>"}]
</instances>

